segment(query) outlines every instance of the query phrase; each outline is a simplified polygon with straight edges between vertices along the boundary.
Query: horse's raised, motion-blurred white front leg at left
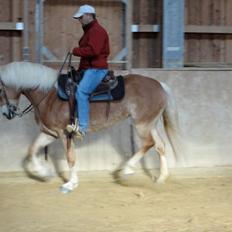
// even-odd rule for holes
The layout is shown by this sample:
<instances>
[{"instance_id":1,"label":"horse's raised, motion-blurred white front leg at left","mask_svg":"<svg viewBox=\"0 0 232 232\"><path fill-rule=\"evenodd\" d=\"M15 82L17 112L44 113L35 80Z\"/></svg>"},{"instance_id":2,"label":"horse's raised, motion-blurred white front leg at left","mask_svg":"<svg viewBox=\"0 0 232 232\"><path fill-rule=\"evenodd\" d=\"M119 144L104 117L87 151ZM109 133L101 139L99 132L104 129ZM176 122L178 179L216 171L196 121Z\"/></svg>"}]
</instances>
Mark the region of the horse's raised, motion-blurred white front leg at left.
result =
<instances>
[{"instance_id":1,"label":"horse's raised, motion-blurred white front leg at left","mask_svg":"<svg viewBox=\"0 0 232 232\"><path fill-rule=\"evenodd\" d=\"M28 155L24 162L25 171L31 177L39 177L46 180L51 176L51 172L48 166L44 165L37 157L39 149L44 148L48 144L52 143L56 138L41 132L35 141L30 145Z\"/></svg>"}]
</instances>

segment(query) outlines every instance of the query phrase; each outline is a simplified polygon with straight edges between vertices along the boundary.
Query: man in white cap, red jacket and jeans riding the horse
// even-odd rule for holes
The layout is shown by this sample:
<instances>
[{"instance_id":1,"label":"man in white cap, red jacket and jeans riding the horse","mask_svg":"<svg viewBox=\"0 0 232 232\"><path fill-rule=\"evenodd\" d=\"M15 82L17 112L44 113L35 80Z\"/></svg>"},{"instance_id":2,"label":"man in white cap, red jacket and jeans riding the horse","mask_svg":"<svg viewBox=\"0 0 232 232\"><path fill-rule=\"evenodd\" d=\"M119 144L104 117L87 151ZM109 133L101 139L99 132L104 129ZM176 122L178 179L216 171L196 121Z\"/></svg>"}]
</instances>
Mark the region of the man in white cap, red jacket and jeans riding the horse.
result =
<instances>
[{"instance_id":1,"label":"man in white cap, red jacket and jeans riding the horse","mask_svg":"<svg viewBox=\"0 0 232 232\"><path fill-rule=\"evenodd\" d=\"M84 75L75 94L79 124L68 125L67 130L83 138L89 125L89 97L108 72L110 49L108 34L98 23L94 7L82 5L73 18L79 20L84 30L79 47L72 51L74 56L81 57L78 71L83 71Z\"/></svg>"}]
</instances>

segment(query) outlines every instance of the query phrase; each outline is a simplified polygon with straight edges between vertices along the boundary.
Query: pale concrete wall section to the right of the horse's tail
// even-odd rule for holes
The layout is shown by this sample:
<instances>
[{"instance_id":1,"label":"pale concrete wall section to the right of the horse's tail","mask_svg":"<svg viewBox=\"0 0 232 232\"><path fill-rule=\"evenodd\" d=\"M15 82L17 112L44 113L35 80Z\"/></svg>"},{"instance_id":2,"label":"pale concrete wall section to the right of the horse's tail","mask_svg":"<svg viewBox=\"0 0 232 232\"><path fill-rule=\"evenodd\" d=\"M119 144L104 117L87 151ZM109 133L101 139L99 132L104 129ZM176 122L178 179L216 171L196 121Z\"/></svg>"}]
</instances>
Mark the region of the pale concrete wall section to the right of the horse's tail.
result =
<instances>
[{"instance_id":1,"label":"pale concrete wall section to the right of the horse's tail","mask_svg":"<svg viewBox=\"0 0 232 232\"><path fill-rule=\"evenodd\" d=\"M168 83L176 96L185 166L232 164L232 72L136 70Z\"/></svg>"}]
</instances>

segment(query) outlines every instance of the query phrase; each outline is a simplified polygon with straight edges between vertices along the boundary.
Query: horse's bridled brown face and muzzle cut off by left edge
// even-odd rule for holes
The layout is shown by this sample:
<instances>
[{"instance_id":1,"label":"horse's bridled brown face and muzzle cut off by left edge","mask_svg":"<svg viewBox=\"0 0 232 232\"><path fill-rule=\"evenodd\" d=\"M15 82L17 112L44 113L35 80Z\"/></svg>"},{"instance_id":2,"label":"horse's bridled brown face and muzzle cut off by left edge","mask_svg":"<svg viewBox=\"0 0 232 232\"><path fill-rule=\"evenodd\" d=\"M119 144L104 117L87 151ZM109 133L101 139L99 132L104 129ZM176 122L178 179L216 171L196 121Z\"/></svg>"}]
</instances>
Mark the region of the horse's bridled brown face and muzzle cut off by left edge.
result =
<instances>
[{"instance_id":1,"label":"horse's bridled brown face and muzzle cut off by left edge","mask_svg":"<svg viewBox=\"0 0 232 232\"><path fill-rule=\"evenodd\" d=\"M7 119L17 115L20 91L7 87L0 80L0 110Z\"/></svg>"}]
</instances>

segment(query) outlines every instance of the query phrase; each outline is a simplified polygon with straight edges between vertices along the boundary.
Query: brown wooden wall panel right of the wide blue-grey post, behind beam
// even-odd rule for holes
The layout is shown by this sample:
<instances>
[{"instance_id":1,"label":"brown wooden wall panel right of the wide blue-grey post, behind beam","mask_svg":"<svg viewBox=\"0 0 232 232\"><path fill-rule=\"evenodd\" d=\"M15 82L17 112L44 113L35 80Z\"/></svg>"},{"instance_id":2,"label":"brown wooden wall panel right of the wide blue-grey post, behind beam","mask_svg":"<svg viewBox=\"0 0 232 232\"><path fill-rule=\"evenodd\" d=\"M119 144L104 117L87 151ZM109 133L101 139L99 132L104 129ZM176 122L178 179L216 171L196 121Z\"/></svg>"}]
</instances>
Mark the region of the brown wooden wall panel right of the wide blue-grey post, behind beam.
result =
<instances>
[{"instance_id":1,"label":"brown wooden wall panel right of the wide blue-grey post, behind beam","mask_svg":"<svg viewBox=\"0 0 232 232\"><path fill-rule=\"evenodd\" d=\"M201 26L232 26L231 0L186 0L185 24ZM232 64L232 35L187 33L186 64Z\"/></svg>"}]
</instances>

